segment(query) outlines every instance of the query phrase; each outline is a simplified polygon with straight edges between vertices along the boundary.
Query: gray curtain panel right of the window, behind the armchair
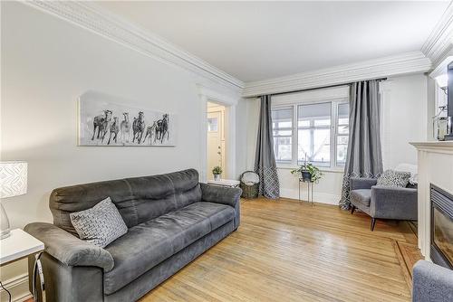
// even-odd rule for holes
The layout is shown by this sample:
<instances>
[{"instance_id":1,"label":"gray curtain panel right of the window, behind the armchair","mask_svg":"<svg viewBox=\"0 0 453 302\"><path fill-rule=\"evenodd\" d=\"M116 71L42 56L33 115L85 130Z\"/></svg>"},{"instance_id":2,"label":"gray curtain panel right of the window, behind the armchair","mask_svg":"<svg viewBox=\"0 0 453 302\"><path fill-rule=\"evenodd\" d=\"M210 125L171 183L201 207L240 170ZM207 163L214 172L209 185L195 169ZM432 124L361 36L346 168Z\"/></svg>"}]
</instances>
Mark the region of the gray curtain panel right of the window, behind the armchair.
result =
<instances>
[{"instance_id":1,"label":"gray curtain panel right of the window, behind the armchair","mask_svg":"<svg viewBox=\"0 0 453 302\"><path fill-rule=\"evenodd\" d=\"M382 173L381 104L379 81L363 80L350 88L349 146L340 206L350 207L351 177L377 177Z\"/></svg>"}]
</instances>

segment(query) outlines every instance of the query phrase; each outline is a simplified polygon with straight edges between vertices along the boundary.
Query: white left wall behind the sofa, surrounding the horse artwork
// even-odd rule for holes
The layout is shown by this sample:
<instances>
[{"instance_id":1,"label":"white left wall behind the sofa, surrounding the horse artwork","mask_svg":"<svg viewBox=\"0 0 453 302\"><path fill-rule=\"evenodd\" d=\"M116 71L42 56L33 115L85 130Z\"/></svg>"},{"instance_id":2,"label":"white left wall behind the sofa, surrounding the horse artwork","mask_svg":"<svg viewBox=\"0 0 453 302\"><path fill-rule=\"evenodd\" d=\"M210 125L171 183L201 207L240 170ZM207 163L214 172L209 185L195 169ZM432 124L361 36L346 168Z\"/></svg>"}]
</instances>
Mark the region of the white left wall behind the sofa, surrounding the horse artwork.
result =
<instances>
[{"instance_id":1,"label":"white left wall behind the sofa, surrounding the horse artwork","mask_svg":"<svg viewBox=\"0 0 453 302\"><path fill-rule=\"evenodd\" d=\"M198 86L237 90L132 51L29 6L2 3L1 159L29 163L28 193L3 201L14 228L52 222L53 188L201 166ZM99 90L178 115L176 147L76 146L77 98ZM25 261L2 268L7 281ZM27 290L19 279L14 297ZM2 296L2 300L5 298Z\"/></svg>"}]
</instances>

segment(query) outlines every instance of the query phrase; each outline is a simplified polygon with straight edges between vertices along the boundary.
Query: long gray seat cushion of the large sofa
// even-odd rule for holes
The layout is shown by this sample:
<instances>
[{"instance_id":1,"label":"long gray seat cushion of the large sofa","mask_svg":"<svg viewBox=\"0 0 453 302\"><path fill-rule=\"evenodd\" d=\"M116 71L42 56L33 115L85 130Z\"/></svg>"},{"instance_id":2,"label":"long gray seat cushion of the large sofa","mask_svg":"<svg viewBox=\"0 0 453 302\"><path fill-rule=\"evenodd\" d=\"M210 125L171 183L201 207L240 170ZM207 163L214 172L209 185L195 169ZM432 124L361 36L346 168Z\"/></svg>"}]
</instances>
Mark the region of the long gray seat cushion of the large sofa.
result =
<instances>
[{"instance_id":1,"label":"long gray seat cushion of the large sofa","mask_svg":"<svg viewBox=\"0 0 453 302\"><path fill-rule=\"evenodd\" d=\"M229 205L199 202L130 228L106 247L115 265L104 273L104 293L124 287L234 217Z\"/></svg>"}]
</instances>

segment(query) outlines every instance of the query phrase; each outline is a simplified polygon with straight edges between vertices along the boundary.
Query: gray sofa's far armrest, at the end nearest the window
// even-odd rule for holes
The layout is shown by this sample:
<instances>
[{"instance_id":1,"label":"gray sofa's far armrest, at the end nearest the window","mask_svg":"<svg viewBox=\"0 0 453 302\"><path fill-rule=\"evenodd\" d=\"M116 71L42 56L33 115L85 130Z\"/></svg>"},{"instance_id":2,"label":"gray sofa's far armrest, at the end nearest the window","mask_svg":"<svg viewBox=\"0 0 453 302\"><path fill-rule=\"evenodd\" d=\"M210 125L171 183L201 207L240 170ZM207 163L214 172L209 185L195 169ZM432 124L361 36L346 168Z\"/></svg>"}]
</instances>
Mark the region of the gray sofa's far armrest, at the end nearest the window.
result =
<instances>
[{"instance_id":1,"label":"gray sofa's far armrest, at the end nearest the window","mask_svg":"<svg viewBox=\"0 0 453 302\"><path fill-rule=\"evenodd\" d=\"M235 208L235 229L241 221L241 203L239 202L242 189L226 188L218 185L200 184L201 200L209 203L222 203Z\"/></svg>"}]
</instances>

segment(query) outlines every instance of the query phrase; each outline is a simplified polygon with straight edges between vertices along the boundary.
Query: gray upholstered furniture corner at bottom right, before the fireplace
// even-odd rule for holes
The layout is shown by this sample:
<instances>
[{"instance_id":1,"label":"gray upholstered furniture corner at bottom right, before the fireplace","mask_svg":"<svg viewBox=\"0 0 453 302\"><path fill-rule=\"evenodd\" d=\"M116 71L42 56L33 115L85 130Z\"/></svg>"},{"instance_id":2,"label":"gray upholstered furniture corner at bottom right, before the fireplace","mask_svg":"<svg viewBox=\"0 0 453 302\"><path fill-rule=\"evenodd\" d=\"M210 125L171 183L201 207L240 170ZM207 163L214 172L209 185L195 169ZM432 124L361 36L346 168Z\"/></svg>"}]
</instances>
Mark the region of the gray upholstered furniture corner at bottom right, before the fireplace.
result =
<instances>
[{"instance_id":1,"label":"gray upholstered furniture corner at bottom right, before the fireplace","mask_svg":"<svg viewBox=\"0 0 453 302\"><path fill-rule=\"evenodd\" d=\"M453 301L453 270L419 260L413 268L412 301Z\"/></svg>"}]
</instances>

